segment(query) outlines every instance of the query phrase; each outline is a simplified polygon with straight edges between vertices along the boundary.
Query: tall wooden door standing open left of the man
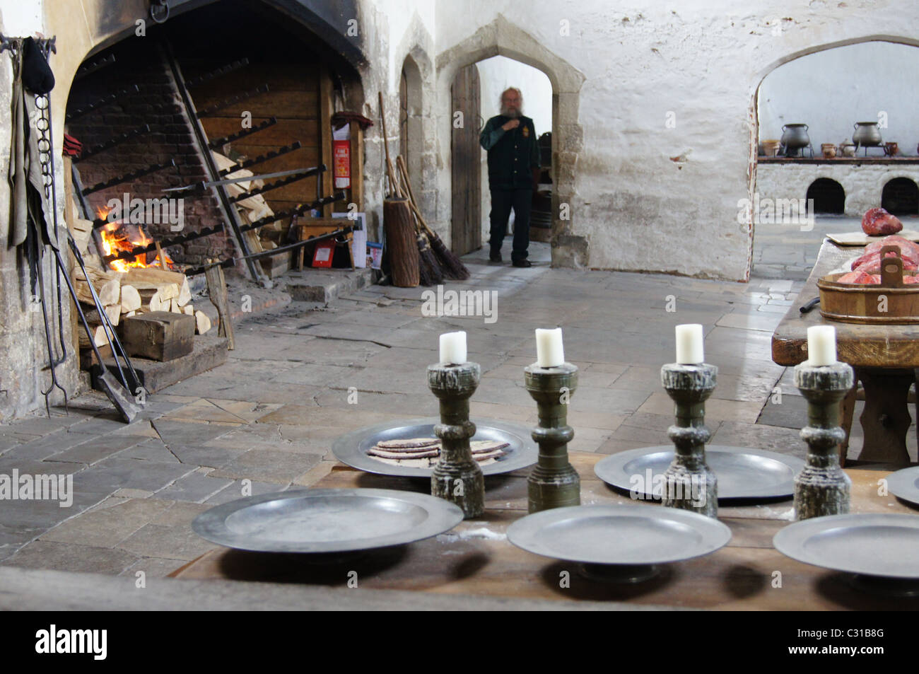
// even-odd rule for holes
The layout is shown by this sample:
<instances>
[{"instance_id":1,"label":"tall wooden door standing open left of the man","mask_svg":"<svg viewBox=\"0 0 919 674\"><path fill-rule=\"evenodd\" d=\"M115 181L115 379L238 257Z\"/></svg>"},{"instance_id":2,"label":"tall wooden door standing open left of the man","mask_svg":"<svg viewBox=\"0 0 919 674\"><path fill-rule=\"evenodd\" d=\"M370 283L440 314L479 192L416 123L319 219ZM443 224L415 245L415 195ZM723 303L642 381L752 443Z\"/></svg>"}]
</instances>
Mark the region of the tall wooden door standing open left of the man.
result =
<instances>
[{"instance_id":1,"label":"tall wooden door standing open left of the man","mask_svg":"<svg viewBox=\"0 0 919 674\"><path fill-rule=\"evenodd\" d=\"M451 245L457 255L482 247L482 147L480 131L479 69L475 63L459 71L450 87L453 114L450 125L452 156ZM453 123L463 113L461 128Z\"/></svg>"}]
</instances>

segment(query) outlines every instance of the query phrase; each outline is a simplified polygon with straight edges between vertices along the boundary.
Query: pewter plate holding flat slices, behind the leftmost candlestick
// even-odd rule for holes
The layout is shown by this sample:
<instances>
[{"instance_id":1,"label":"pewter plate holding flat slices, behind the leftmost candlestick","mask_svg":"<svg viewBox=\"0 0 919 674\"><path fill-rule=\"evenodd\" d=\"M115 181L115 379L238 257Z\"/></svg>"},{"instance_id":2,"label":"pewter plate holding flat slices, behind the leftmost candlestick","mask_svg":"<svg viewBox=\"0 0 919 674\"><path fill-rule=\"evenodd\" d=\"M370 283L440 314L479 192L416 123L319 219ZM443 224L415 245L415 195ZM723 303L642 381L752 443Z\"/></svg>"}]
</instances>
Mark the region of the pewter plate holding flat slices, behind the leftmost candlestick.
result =
<instances>
[{"instance_id":1,"label":"pewter plate holding flat slices, behind the leftmost candlestick","mask_svg":"<svg viewBox=\"0 0 919 674\"><path fill-rule=\"evenodd\" d=\"M539 447L533 441L532 428L495 419L473 418L471 420L475 424L475 435L472 436L472 440L498 440L509 444L508 447L505 447L504 456L498 457L494 463L482 466L482 474L510 473L536 463L539 457ZM376 426L361 428L335 440L332 444L332 453L341 463L368 473L402 477L430 477L434 472L433 467L417 468L384 463L374 459L367 451L380 440L435 438L434 426L437 423L440 423L440 419L428 417L387 421Z\"/></svg>"}]
</instances>

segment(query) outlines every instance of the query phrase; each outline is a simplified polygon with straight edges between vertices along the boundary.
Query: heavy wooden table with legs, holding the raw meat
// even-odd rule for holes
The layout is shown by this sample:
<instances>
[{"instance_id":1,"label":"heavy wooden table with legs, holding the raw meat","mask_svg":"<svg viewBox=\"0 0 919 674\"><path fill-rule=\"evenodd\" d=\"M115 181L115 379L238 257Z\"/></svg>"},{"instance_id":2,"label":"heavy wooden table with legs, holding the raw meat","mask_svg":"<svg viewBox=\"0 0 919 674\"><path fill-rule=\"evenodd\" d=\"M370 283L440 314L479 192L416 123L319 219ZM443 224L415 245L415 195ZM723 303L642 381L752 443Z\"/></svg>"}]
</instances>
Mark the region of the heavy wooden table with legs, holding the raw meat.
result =
<instances>
[{"instance_id":1,"label":"heavy wooden table with legs, holding the raw meat","mask_svg":"<svg viewBox=\"0 0 919 674\"><path fill-rule=\"evenodd\" d=\"M819 305L808 314L799 311L820 294L818 279L864 251L864 247L823 241L811 276L772 336L772 360L786 366L807 360L808 327L834 326L838 358L855 369L856 383L860 381L865 391L865 411L860 417L865 443L858 460L905 465L910 461L906 433L912 423L907 395L916 379L915 368L919 368L919 326L828 321L820 314ZM855 400L853 389L843 401L846 431L852 424ZM847 442L841 448L844 458Z\"/></svg>"}]
</instances>

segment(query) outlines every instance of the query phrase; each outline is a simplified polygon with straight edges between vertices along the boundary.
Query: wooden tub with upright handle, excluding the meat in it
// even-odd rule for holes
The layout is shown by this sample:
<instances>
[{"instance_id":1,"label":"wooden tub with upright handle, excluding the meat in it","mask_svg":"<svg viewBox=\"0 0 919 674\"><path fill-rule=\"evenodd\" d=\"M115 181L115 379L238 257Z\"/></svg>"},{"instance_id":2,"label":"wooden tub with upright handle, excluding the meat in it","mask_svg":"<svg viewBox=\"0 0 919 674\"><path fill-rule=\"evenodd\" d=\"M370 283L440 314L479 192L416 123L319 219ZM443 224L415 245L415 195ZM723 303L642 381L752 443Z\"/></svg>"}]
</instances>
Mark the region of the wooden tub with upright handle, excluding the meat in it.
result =
<instances>
[{"instance_id":1,"label":"wooden tub with upright handle, excluding the meat in it","mask_svg":"<svg viewBox=\"0 0 919 674\"><path fill-rule=\"evenodd\" d=\"M891 251L897 257L884 257ZM817 280L823 318L844 323L919 323L919 283L903 284L900 248L884 246L880 256L880 285L835 282L843 274Z\"/></svg>"}]
</instances>

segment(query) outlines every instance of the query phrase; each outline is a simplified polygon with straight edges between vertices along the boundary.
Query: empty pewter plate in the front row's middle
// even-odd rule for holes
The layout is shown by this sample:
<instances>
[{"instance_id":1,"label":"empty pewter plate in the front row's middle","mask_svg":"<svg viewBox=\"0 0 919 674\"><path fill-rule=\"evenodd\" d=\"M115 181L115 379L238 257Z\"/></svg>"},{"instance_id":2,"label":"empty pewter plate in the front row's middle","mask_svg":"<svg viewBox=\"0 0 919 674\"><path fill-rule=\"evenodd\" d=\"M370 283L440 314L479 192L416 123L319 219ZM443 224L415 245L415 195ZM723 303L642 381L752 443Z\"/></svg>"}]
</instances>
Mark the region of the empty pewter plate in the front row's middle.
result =
<instances>
[{"instance_id":1,"label":"empty pewter plate in the front row's middle","mask_svg":"<svg viewBox=\"0 0 919 674\"><path fill-rule=\"evenodd\" d=\"M688 510L625 503L542 510L511 524L507 540L570 562L655 565L713 553L731 530Z\"/></svg>"}]
</instances>

